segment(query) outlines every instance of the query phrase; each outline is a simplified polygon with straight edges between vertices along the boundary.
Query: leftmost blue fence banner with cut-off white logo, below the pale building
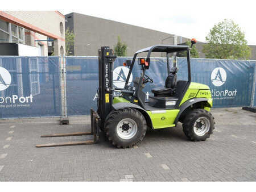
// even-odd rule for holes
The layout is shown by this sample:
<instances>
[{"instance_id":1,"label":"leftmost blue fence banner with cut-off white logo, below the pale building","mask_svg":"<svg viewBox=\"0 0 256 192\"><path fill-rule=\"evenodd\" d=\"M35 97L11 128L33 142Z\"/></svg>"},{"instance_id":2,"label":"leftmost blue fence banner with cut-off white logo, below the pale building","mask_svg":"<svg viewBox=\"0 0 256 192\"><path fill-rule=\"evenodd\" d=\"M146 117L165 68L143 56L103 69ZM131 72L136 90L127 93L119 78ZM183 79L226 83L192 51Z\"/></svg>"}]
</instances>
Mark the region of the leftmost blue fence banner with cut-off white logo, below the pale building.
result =
<instances>
[{"instance_id":1,"label":"leftmost blue fence banner with cut-off white logo, below the pale building","mask_svg":"<svg viewBox=\"0 0 256 192\"><path fill-rule=\"evenodd\" d=\"M60 116L60 57L0 57L0 118Z\"/></svg>"}]
</instances>

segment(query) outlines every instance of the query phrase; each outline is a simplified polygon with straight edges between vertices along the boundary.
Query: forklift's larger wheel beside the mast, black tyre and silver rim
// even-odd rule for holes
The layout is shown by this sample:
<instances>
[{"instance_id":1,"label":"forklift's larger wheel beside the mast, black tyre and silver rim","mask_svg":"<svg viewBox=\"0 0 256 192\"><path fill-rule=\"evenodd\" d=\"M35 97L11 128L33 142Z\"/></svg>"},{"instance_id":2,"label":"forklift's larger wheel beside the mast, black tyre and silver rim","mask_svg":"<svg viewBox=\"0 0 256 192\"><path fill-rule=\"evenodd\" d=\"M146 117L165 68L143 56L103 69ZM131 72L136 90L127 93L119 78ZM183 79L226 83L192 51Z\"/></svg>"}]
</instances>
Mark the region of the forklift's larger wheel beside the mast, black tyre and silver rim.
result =
<instances>
[{"instance_id":1,"label":"forklift's larger wheel beside the mast, black tyre and silver rim","mask_svg":"<svg viewBox=\"0 0 256 192\"><path fill-rule=\"evenodd\" d=\"M146 135L144 116L134 108L122 108L111 112L106 118L105 133L117 148L139 145Z\"/></svg>"}]
</instances>

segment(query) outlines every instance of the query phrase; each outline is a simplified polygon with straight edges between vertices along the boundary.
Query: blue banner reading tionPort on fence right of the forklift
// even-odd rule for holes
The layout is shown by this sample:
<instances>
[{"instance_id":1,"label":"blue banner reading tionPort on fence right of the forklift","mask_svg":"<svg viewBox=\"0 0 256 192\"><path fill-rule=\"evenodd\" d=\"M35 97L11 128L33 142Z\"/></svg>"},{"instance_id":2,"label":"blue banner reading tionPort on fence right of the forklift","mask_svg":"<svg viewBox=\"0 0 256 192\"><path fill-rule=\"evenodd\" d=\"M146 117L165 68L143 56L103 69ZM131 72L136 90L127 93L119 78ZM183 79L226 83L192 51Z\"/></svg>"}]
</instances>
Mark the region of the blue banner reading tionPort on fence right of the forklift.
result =
<instances>
[{"instance_id":1,"label":"blue banner reading tionPort on fence right of the forklift","mask_svg":"<svg viewBox=\"0 0 256 192\"><path fill-rule=\"evenodd\" d=\"M187 59L179 58L177 66L183 77ZM191 78L210 87L213 107L250 106L254 66L254 61L191 59Z\"/></svg>"}]
</instances>

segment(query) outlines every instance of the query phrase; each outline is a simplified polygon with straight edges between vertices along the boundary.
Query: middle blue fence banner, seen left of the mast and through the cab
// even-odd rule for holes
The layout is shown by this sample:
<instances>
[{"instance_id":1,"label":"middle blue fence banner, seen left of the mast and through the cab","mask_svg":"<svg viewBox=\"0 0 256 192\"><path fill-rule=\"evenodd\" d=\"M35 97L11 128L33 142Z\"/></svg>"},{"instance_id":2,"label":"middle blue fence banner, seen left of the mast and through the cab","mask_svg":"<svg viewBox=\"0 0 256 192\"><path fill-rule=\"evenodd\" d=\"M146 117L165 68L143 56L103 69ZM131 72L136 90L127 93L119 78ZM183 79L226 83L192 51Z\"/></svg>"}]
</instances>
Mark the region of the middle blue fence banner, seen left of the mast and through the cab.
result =
<instances>
[{"instance_id":1,"label":"middle blue fence banner, seen left of the mast and through the cab","mask_svg":"<svg viewBox=\"0 0 256 192\"><path fill-rule=\"evenodd\" d=\"M123 87L129 68L123 66L126 60L132 60L133 57L117 57L114 62L113 86ZM97 108L96 93L98 89L98 57L73 57L67 56L67 110L68 115L85 115L90 113L90 108ZM151 94L151 88L162 86L167 77L167 61L164 58L151 58L150 69L146 74L154 79L153 84L147 84L144 88L148 94ZM172 64L172 59L170 59ZM135 61L133 74L129 84L135 77L141 76L141 66L138 60ZM114 93L118 95L117 93Z\"/></svg>"}]
</instances>

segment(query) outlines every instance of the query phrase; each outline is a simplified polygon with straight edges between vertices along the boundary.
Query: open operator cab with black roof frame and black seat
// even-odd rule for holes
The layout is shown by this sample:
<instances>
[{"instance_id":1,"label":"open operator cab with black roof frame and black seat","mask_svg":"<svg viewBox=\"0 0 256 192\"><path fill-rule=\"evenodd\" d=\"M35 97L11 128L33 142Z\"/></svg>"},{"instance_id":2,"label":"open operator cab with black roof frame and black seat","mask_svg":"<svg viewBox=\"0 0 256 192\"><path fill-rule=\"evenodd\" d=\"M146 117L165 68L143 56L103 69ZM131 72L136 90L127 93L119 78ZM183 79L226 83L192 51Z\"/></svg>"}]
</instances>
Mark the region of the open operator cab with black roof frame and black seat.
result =
<instances>
[{"instance_id":1,"label":"open operator cab with black roof frame and black seat","mask_svg":"<svg viewBox=\"0 0 256 192\"><path fill-rule=\"evenodd\" d=\"M163 52L166 53L166 70L164 72L167 77L165 78L165 83L154 83L154 78L150 76L161 76L163 77L163 72L154 71L154 62L150 61L150 55L152 52ZM138 64L141 65L141 77L136 77L133 80L133 86L129 86L129 78L134 67L135 60L140 53L147 53L146 58L138 58ZM185 79L179 78L177 72L179 71L177 63L177 56L187 58L185 63L185 70L187 71L187 77ZM172 58L172 63L170 64ZM184 67L184 66L183 66ZM136 67L138 70L138 67ZM148 69L153 70L148 70ZM184 69L184 68L183 68ZM147 71L149 75L147 75ZM184 71L184 70L183 70ZM184 74L183 74L184 76ZM156 79L160 79L159 77ZM151 95L146 102L146 93L143 91L146 84L150 82L153 87L150 92ZM179 108L179 104L187 91L188 86L191 82L190 73L190 61L189 61L189 47L187 45L154 45L152 47L144 48L137 51L133 57L133 61L130 64L129 74L127 76L125 89L133 90L133 95L123 94L123 97L130 102L144 108L144 110L153 111L160 109L174 109ZM154 83L154 84L153 84ZM160 86L159 86L160 85ZM155 86L155 87L154 87ZM154 95L153 95L154 94Z\"/></svg>"}]
</instances>

